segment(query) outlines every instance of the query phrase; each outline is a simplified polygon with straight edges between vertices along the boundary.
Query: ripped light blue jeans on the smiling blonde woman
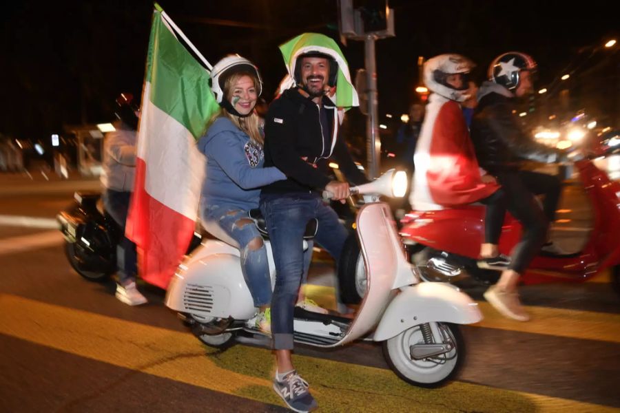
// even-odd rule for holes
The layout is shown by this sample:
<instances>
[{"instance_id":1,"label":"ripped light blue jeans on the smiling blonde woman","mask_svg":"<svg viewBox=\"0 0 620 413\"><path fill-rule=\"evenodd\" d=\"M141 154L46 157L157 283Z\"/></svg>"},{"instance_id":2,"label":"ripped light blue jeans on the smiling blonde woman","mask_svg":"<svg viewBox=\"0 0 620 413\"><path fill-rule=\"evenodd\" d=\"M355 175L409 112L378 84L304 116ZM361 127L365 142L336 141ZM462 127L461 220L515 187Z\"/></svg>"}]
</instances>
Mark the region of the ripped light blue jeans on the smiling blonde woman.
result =
<instances>
[{"instance_id":1,"label":"ripped light blue jeans on the smiling blonde woman","mask_svg":"<svg viewBox=\"0 0 620 413\"><path fill-rule=\"evenodd\" d=\"M203 222L215 222L239 244L241 271L254 299L254 306L269 306L271 277L267 249L254 220L249 218L247 211L231 206L205 205L202 212Z\"/></svg>"}]
</instances>

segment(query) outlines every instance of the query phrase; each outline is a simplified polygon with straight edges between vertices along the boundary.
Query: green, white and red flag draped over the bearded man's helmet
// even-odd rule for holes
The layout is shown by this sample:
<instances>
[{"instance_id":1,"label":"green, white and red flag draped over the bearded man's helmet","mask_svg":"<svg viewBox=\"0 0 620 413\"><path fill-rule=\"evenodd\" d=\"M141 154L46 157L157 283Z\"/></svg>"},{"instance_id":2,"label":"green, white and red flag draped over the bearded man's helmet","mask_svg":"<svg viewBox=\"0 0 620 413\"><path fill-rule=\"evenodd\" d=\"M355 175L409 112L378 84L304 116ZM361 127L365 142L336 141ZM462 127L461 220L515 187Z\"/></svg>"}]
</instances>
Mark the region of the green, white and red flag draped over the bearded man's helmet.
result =
<instances>
[{"instance_id":1,"label":"green, white and red flag draped over the bearded man's helmet","mask_svg":"<svg viewBox=\"0 0 620 413\"><path fill-rule=\"evenodd\" d=\"M329 96L337 107L349 109L360 105L358 92L351 83L349 63L344 59L342 50L333 39L319 33L304 33L280 45L280 52L287 65L289 74L280 83L280 93L296 85L294 81L295 64L300 54L320 52L333 57L338 63L338 75L336 76L335 94Z\"/></svg>"}]
</instances>

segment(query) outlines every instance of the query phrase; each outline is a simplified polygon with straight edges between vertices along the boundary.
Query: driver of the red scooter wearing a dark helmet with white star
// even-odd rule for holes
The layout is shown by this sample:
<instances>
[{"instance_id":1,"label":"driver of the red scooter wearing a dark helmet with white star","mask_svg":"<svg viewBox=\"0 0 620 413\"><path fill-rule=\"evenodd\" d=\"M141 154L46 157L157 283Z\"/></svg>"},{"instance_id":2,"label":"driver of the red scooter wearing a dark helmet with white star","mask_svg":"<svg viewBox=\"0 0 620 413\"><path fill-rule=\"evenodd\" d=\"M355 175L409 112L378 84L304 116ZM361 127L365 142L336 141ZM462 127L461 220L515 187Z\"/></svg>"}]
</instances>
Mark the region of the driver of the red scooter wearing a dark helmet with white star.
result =
<instances>
[{"instance_id":1,"label":"driver of the red scooter wearing a dark helmet with white star","mask_svg":"<svg viewBox=\"0 0 620 413\"><path fill-rule=\"evenodd\" d=\"M545 242L559 200L560 182L543 173L519 171L522 160L558 162L566 155L534 142L513 116L515 100L533 93L536 62L520 52L498 56L488 68L488 81L478 93L471 135L480 164L502 184L508 211L524 231L513 249L513 262L484 297L502 313L519 321L529 317L517 294L519 278ZM533 193L545 193L545 213ZM546 215L546 216L545 216Z\"/></svg>"}]
</instances>

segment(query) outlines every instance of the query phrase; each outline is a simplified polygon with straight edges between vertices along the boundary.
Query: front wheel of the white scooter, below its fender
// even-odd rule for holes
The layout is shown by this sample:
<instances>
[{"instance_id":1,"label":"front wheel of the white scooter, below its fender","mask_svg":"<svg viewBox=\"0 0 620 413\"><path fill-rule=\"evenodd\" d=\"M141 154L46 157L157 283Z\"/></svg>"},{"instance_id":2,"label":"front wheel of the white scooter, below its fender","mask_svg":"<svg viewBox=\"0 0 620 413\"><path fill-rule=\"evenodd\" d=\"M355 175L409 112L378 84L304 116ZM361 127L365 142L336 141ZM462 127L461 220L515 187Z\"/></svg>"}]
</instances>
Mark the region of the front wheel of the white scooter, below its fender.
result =
<instances>
[{"instance_id":1,"label":"front wheel of the white scooter, below its fender","mask_svg":"<svg viewBox=\"0 0 620 413\"><path fill-rule=\"evenodd\" d=\"M437 388L458 374L465 358L465 342L457 325L426 324L434 343L449 343L452 349L424 359L414 359L411 347L425 343L424 324L413 326L383 342L383 354L393 372L407 383L424 388Z\"/></svg>"}]
</instances>

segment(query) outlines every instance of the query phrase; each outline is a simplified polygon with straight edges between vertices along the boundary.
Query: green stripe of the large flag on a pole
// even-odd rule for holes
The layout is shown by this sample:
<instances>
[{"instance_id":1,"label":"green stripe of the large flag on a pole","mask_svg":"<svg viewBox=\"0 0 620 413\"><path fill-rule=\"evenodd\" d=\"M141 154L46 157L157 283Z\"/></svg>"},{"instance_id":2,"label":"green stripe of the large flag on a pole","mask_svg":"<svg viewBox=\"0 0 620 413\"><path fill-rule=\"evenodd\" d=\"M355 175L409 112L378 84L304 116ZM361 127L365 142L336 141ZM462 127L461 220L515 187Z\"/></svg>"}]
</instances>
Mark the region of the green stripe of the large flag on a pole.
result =
<instances>
[{"instance_id":1,"label":"green stripe of the large flag on a pole","mask_svg":"<svg viewBox=\"0 0 620 413\"><path fill-rule=\"evenodd\" d=\"M218 109L209 72L170 32L161 12L155 11L147 54L145 81L151 83L149 100L176 119L198 139Z\"/></svg>"}]
</instances>

